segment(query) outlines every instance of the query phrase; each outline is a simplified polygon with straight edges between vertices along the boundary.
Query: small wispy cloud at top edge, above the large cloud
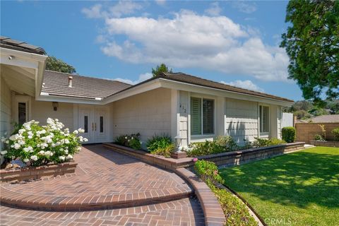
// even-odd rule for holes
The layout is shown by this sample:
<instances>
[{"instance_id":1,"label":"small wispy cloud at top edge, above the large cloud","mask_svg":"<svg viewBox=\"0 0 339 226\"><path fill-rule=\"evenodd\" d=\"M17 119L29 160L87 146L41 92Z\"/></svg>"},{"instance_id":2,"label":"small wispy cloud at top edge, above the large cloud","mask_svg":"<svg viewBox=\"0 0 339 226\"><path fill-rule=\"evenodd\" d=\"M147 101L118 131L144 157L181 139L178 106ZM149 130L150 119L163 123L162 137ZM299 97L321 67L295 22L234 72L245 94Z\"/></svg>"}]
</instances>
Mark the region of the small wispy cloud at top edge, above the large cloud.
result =
<instances>
[{"instance_id":1,"label":"small wispy cloud at top edge, above the large cloud","mask_svg":"<svg viewBox=\"0 0 339 226\"><path fill-rule=\"evenodd\" d=\"M109 18L130 15L143 8L140 4L133 1L118 1L114 6L102 9L102 4L95 4L91 8L83 8L82 13L88 18Z\"/></svg>"}]
</instances>

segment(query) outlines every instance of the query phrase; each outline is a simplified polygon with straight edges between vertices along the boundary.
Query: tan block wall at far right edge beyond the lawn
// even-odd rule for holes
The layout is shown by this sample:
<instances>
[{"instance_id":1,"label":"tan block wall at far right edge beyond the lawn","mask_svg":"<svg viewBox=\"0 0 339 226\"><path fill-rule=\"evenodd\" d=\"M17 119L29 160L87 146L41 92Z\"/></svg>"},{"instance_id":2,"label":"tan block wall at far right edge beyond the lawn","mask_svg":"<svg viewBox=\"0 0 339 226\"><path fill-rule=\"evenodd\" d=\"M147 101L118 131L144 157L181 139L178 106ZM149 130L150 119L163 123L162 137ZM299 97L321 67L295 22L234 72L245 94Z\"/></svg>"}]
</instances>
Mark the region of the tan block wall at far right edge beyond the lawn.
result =
<instances>
[{"instance_id":1,"label":"tan block wall at far right edge beyond the lawn","mask_svg":"<svg viewBox=\"0 0 339 226\"><path fill-rule=\"evenodd\" d=\"M319 125L325 125L326 129L326 140L333 141L334 136L331 131L335 128L339 128L339 123L328 122L328 123L296 123L295 129L297 130L296 141L305 143L311 143L314 140L316 134L321 134L321 128Z\"/></svg>"}]
</instances>

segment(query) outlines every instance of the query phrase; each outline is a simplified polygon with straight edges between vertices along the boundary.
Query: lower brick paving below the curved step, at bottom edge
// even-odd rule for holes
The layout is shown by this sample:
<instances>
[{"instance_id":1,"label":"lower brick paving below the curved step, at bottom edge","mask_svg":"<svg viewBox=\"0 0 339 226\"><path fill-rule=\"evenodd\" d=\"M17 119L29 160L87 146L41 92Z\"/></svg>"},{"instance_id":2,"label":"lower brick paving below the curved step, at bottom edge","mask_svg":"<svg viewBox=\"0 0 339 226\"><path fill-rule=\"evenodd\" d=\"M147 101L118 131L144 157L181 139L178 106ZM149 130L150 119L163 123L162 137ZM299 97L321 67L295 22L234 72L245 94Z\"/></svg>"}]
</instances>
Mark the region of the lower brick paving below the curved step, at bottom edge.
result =
<instances>
[{"instance_id":1,"label":"lower brick paving below the curved step, at bottom edge","mask_svg":"<svg viewBox=\"0 0 339 226\"><path fill-rule=\"evenodd\" d=\"M0 225L205 225L198 201L184 198L136 208L47 212L0 206Z\"/></svg>"}]
</instances>

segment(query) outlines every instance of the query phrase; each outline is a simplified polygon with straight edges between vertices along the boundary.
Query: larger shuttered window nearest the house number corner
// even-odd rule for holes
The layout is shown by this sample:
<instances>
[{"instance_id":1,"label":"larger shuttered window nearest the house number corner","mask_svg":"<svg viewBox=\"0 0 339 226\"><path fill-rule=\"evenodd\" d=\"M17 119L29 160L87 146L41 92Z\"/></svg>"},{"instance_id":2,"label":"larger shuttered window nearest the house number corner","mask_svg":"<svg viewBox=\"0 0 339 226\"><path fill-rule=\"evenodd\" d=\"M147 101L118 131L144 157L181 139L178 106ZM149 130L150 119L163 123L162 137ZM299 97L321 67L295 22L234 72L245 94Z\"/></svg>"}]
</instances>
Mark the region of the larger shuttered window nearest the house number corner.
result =
<instances>
[{"instance_id":1,"label":"larger shuttered window nearest the house number corner","mask_svg":"<svg viewBox=\"0 0 339 226\"><path fill-rule=\"evenodd\" d=\"M214 100L191 97L191 134L214 133Z\"/></svg>"}]
</instances>

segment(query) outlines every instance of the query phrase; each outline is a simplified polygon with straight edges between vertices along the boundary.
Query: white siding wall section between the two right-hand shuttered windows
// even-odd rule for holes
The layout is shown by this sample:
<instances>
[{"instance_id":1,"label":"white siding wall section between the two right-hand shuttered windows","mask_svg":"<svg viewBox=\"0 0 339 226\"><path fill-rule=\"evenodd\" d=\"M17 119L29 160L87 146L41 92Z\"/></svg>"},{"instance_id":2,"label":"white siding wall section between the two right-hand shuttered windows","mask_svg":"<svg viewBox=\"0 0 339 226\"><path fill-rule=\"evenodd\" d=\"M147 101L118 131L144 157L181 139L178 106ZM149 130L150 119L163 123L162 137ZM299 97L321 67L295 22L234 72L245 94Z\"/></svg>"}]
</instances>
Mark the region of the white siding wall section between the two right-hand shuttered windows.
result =
<instances>
[{"instance_id":1,"label":"white siding wall section between the two right-hand shuttered windows","mask_svg":"<svg viewBox=\"0 0 339 226\"><path fill-rule=\"evenodd\" d=\"M258 103L227 98L225 112L225 135L237 143L244 143L244 139L254 141L258 136Z\"/></svg>"}]
</instances>

